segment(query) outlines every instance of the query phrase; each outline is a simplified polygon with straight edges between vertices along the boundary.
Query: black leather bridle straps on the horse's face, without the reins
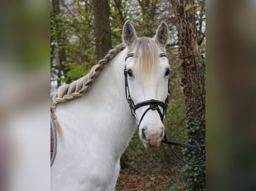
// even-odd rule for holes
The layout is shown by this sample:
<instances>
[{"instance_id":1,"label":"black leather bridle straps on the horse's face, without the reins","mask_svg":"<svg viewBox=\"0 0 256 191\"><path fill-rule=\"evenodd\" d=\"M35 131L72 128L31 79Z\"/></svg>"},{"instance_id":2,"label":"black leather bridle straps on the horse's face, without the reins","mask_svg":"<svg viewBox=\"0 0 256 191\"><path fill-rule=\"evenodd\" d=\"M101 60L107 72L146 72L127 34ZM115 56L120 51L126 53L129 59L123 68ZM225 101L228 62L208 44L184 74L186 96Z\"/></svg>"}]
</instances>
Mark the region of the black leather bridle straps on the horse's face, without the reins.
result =
<instances>
[{"instance_id":1,"label":"black leather bridle straps on the horse's face, without the reins","mask_svg":"<svg viewBox=\"0 0 256 191\"><path fill-rule=\"evenodd\" d=\"M128 54L127 57L125 58L125 61L127 60L127 58L133 57L133 56L134 56L134 54ZM166 55L163 54L163 53L160 54L159 56L160 57L166 57ZM150 109L157 110L157 112L160 115L161 121L163 123L164 119L165 119L166 108L167 108L168 102L169 102L169 96L167 95L167 97L165 99L165 102L162 102L162 101L159 101L159 100L155 100L155 99L150 99L150 100L139 102L139 103L137 103L135 105L133 100L132 100L132 98L131 98L130 91L129 91L126 66L124 68L124 77L125 77L125 94L126 94L126 99L127 99L128 103L129 103L129 107L131 108L131 113L132 113L132 115L136 119L138 127L140 126L140 123L141 123L143 117L145 116L145 114ZM170 79L168 80L168 93L170 93L170 91L169 91L169 82L170 82ZM128 93L128 95L127 95L127 93ZM137 117L136 112L135 112L136 109L138 109L139 107L142 107L142 106L146 106L146 105L149 105L149 107L144 111L144 113L142 114L140 120L138 120L138 117ZM163 112L161 112L161 109L159 108L159 106L161 106L163 108Z\"/></svg>"}]
</instances>

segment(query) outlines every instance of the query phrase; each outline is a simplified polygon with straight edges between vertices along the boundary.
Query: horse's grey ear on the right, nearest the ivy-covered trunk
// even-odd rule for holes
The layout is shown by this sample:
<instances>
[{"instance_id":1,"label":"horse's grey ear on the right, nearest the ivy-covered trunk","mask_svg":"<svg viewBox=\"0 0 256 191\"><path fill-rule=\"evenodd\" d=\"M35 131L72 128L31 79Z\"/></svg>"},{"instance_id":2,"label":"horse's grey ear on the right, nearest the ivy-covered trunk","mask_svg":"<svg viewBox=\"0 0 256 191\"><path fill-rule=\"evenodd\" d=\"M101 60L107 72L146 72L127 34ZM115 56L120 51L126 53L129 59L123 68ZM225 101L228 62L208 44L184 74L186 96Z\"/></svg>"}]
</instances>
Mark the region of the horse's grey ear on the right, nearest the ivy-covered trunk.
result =
<instances>
[{"instance_id":1,"label":"horse's grey ear on the right, nearest the ivy-covered trunk","mask_svg":"<svg viewBox=\"0 0 256 191\"><path fill-rule=\"evenodd\" d=\"M161 24L159 25L154 39L162 47L165 47L169 39L169 30L165 22L162 21Z\"/></svg>"}]
</instances>

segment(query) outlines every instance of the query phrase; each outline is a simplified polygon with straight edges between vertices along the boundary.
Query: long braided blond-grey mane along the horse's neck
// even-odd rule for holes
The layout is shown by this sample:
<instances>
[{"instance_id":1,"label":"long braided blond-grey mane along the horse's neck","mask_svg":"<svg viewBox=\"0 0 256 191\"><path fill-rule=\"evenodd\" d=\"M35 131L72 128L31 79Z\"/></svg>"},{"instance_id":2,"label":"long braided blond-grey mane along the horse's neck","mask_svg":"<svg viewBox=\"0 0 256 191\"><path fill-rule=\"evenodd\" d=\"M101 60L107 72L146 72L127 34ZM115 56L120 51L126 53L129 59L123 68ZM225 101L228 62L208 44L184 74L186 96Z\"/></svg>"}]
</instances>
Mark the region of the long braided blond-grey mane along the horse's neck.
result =
<instances>
[{"instance_id":1,"label":"long braided blond-grey mane along the horse's neck","mask_svg":"<svg viewBox=\"0 0 256 191\"><path fill-rule=\"evenodd\" d=\"M103 67L125 48L126 45L124 43L117 45L114 49L109 50L108 54L102 60L100 60L98 64L93 66L86 76L72 82L71 84L65 84L60 86L57 92L51 94L51 115L55 121L56 128L60 137L62 135L61 128L58 124L58 121L56 120L56 115L54 114L56 105L74 99L76 97L83 96L84 93L90 89L92 83L100 74Z\"/></svg>"}]
</instances>

